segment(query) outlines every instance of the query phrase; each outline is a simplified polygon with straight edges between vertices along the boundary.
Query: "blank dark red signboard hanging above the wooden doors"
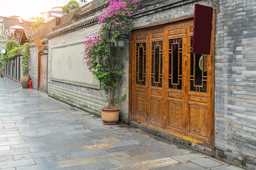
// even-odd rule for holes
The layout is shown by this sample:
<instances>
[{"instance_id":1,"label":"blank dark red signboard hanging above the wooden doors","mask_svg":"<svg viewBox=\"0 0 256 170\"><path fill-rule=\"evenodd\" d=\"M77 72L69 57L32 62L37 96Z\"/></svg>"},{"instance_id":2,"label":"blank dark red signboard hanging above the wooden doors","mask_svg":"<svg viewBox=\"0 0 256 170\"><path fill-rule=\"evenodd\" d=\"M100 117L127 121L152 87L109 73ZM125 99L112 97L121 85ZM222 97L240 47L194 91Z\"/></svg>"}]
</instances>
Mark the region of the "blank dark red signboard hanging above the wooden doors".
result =
<instances>
[{"instance_id":1,"label":"blank dark red signboard hanging above the wooden doors","mask_svg":"<svg viewBox=\"0 0 256 170\"><path fill-rule=\"evenodd\" d=\"M210 54L213 8L195 4L192 53Z\"/></svg>"}]
</instances>

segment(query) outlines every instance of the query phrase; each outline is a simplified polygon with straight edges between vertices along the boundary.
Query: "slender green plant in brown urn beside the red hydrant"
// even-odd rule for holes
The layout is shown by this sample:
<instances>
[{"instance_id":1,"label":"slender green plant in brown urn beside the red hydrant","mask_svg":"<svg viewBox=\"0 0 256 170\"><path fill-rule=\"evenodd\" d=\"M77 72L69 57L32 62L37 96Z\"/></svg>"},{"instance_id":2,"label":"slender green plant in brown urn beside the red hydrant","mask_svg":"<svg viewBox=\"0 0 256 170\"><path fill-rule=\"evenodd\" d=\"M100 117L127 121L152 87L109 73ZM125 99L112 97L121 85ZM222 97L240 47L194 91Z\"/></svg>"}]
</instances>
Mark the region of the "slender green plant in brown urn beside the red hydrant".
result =
<instances>
[{"instance_id":1,"label":"slender green plant in brown urn beside the red hydrant","mask_svg":"<svg viewBox=\"0 0 256 170\"><path fill-rule=\"evenodd\" d=\"M29 59L29 43L25 42L23 44L22 49L22 77L21 77L21 86L22 88L29 88L29 81L31 80L31 77L28 73L29 65L28 65L28 59Z\"/></svg>"}]
</instances>

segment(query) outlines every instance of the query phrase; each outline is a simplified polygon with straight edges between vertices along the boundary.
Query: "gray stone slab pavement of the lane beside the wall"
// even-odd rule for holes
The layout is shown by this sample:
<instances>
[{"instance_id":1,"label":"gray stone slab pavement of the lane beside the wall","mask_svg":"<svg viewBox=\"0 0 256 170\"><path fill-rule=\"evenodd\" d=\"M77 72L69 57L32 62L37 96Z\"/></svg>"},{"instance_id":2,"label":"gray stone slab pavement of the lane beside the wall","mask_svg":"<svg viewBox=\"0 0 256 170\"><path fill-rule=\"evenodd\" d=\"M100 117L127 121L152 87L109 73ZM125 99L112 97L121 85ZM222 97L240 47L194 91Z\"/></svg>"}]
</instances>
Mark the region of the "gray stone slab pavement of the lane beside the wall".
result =
<instances>
[{"instance_id":1,"label":"gray stone slab pavement of the lane beside the wall","mask_svg":"<svg viewBox=\"0 0 256 170\"><path fill-rule=\"evenodd\" d=\"M242 170L0 78L2 170Z\"/></svg>"}]
</instances>

